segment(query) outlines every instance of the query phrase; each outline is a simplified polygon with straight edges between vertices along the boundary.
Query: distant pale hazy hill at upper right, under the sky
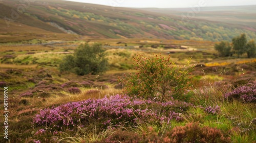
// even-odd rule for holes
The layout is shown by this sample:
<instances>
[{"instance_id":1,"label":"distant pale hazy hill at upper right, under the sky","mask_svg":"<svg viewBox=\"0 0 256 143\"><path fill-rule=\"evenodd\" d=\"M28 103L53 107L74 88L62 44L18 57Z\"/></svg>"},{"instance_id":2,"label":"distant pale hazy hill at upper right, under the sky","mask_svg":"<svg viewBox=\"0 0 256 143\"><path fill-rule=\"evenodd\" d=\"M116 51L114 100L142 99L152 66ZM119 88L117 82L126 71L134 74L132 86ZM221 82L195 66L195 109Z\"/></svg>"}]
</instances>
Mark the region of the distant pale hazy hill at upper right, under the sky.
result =
<instances>
[{"instance_id":1,"label":"distant pale hazy hill at upper right, under the sky","mask_svg":"<svg viewBox=\"0 0 256 143\"><path fill-rule=\"evenodd\" d=\"M144 8L140 10L171 13L176 16L191 16L193 18L205 19L210 21L219 21L225 23L236 23L245 27L256 29L256 5L253 6L229 6L229 7L194 7L194 8L173 8L156 9ZM191 14L194 11L194 14Z\"/></svg>"}]
</instances>

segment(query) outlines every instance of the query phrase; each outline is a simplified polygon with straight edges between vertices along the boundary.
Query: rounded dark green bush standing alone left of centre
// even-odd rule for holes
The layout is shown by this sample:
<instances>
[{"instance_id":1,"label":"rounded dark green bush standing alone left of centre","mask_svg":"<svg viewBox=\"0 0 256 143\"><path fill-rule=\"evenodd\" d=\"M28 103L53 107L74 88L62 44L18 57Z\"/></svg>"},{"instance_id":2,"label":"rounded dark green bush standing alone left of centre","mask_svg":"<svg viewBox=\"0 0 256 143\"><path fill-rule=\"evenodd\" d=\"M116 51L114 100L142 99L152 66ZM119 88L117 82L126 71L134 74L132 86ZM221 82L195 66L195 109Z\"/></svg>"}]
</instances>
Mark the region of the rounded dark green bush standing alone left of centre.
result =
<instances>
[{"instance_id":1,"label":"rounded dark green bush standing alone left of centre","mask_svg":"<svg viewBox=\"0 0 256 143\"><path fill-rule=\"evenodd\" d=\"M80 44L74 55L68 55L59 65L60 71L71 71L77 75L98 74L105 71L108 61L105 58L101 44L95 43L90 46L88 43Z\"/></svg>"}]
</instances>

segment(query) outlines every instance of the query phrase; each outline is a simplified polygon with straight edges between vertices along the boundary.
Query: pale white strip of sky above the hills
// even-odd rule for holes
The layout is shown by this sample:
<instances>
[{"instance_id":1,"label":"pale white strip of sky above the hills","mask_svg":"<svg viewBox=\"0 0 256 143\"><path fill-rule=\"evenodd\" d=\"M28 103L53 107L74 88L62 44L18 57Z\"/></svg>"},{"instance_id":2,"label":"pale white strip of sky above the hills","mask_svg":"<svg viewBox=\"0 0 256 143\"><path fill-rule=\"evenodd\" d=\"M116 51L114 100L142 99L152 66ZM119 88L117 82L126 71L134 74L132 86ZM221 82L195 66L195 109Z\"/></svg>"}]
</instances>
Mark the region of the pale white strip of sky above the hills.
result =
<instances>
[{"instance_id":1,"label":"pale white strip of sky above the hills","mask_svg":"<svg viewBox=\"0 0 256 143\"><path fill-rule=\"evenodd\" d=\"M231 0L180 0L180 1L135 1L135 0L64 0L71 2L98 4L112 7L127 7L127 8L190 8L190 7L222 7L222 6L248 6L256 5L254 0L231 1Z\"/></svg>"}]
</instances>

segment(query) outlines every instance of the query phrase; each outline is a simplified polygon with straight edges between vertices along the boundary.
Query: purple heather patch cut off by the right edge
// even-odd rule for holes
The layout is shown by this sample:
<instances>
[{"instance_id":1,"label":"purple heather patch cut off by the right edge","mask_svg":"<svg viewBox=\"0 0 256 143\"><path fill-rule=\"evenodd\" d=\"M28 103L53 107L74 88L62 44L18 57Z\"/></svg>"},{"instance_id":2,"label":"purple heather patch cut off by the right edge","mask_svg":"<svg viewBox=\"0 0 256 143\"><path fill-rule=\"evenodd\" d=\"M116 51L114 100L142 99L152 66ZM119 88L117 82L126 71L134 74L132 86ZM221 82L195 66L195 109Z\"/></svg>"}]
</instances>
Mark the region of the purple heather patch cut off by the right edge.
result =
<instances>
[{"instance_id":1,"label":"purple heather patch cut off by the right edge","mask_svg":"<svg viewBox=\"0 0 256 143\"><path fill-rule=\"evenodd\" d=\"M225 99L238 99L245 103L256 103L256 84L248 83L224 95Z\"/></svg>"}]
</instances>

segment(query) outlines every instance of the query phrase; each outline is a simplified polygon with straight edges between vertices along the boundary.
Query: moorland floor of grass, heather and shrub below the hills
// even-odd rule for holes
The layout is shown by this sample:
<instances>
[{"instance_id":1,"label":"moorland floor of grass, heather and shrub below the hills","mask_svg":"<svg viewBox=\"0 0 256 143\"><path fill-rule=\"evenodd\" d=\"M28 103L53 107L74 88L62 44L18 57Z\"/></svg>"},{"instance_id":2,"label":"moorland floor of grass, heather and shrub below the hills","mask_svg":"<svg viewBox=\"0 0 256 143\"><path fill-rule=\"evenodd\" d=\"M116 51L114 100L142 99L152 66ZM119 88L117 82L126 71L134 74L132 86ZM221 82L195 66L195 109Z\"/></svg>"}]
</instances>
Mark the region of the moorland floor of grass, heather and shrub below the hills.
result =
<instances>
[{"instance_id":1,"label":"moorland floor of grass, heather and shrub below the hills","mask_svg":"<svg viewBox=\"0 0 256 143\"><path fill-rule=\"evenodd\" d=\"M54 52L48 55L59 59L53 64L40 51L24 55L33 57L28 65L13 63L26 62L26 53L2 61L0 86L10 89L10 142L256 140L254 59L174 64L176 57L193 54L110 49L111 70L78 76L59 71L65 55ZM194 56L200 61L203 54ZM44 66L31 63L43 59ZM135 70L125 70L130 68Z\"/></svg>"}]
</instances>

